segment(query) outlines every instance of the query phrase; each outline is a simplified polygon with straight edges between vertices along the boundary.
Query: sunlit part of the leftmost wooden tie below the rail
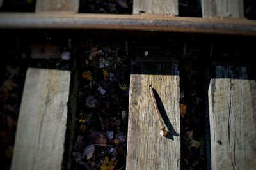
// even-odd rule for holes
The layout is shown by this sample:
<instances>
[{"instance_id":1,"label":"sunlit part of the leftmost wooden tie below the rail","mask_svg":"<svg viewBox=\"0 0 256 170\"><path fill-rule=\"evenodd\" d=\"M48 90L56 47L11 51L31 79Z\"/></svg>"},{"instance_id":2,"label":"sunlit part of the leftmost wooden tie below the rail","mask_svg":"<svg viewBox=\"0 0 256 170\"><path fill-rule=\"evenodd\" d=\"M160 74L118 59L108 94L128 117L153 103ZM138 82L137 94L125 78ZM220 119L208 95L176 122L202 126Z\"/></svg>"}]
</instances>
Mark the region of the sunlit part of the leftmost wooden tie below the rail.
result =
<instances>
[{"instance_id":1,"label":"sunlit part of the leftmost wooden tie below the rail","mask_svg":"<svg viewBox=\"0 0 256 170\"><path fill-rule=\"evenodd\" d=\"M70 71L29 68L11 169L61 169Z\"/></svg>"}]
</instances>

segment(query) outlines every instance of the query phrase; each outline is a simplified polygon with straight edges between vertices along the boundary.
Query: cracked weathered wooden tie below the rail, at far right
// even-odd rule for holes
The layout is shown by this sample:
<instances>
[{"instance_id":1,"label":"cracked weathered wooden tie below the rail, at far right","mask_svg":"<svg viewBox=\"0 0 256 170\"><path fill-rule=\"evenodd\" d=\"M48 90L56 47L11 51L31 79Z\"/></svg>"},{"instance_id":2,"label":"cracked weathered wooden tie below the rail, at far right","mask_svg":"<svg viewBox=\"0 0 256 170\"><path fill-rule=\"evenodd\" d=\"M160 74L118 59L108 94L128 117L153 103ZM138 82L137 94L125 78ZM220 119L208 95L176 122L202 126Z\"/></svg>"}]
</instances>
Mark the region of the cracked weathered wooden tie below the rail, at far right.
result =
<instances>
[{"instance_id":1,"label":"cracked weathered wooden tie below the rail, at far right","mask_svg":"<svg viewBox=\"0 0 256 170\"><path fill-rule=\"evenodd\" d=\"M216 67L209 86L212 169L255 169L256 83L246 67Z\"/></svg>"}]
</instances>

